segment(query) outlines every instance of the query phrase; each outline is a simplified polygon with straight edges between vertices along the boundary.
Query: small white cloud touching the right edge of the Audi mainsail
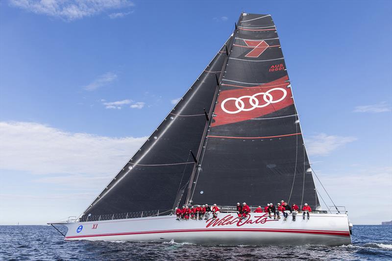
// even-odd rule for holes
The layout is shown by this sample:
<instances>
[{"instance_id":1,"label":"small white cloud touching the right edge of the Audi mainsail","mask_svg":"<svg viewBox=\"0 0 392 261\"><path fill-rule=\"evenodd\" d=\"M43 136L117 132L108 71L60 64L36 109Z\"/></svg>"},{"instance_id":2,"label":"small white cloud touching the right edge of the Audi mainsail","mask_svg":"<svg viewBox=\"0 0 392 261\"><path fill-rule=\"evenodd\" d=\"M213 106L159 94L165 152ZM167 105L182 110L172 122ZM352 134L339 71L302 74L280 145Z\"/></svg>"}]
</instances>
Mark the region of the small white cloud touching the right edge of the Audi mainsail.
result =
<instances>
[{"instance_id":1,"label":"small white cloud touching the right edge of the Audi mainsail","mask_svg":"<svg viewBox=\"0 0 392 261\"><path fill-rule=\"evenodd\" d=\"M305 139L306 149L310 156L326 156L344 144L356 141L355 137L343 137L320 133Z\"/></svg>"}]
</instances>

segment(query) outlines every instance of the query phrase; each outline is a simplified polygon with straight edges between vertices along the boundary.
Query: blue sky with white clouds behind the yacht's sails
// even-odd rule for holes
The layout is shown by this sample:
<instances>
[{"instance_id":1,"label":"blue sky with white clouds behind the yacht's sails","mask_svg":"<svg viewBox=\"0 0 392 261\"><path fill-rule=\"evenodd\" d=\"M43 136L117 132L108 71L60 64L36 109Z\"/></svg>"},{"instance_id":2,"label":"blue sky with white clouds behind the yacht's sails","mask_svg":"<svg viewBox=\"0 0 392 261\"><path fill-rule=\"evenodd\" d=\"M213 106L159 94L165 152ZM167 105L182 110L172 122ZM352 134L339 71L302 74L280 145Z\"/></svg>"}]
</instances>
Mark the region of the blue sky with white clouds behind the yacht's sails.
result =
<instances>
[{"instance_id":1,"label":"blue sky with white clouds behind the yacht's sails","mask_svg":"<svg viewBox=\"0 0 392 261\"><path fill-rule=\"evenodd\" d=\"M391 220L362 209L392 208L391 10L391 1L0 1L0 223L80 214L242 11L272 15L313 168L335 203L354 224Z\"/></svg>"}]
</instances>

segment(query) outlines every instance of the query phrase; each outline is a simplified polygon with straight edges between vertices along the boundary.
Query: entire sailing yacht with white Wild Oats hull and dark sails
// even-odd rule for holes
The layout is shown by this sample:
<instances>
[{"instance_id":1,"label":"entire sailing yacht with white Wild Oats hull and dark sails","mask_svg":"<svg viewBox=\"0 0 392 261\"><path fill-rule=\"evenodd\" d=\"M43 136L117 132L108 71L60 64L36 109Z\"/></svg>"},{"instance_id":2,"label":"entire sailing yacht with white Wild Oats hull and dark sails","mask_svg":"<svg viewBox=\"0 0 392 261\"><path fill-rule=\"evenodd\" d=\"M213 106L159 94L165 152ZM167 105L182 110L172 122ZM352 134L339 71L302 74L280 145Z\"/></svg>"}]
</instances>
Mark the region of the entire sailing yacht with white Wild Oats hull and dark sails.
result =
<instances>
[{"instance_id":1,"label":"entire sailing yacht with white Wild Oats hull and dark sails","mask_svg":"<svg viewBox=\"0 0 392 261\"><path fill-rule=\"evenodd\" d=\"M314 210L245 219L284 200ZM214 219L176 220L183 205L217 204ZM195 83L78 217L66 240L171 241L204 245L343 245L346 212L321 211L285 60L270 15L242 13Z\"/></svg>"}]
</instances>

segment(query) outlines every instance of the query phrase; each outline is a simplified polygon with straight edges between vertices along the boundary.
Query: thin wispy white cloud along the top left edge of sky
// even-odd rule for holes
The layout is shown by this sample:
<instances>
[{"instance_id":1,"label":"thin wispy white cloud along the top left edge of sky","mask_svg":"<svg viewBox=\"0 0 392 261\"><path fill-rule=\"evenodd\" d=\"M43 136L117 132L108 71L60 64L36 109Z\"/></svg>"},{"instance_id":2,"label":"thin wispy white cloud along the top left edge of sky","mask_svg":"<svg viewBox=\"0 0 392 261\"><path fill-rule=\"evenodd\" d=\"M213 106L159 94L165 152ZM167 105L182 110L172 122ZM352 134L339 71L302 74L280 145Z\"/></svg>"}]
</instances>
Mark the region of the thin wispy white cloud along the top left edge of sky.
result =
<instances>
[{"instance_id":1,"label":"thin wispy white cloud along the top left edge of sky","mask_svg":"<svg viewBox=\"0 0 392 261\"><path fill-rule=\"evenodd\" d=\"M129 0L11 0L10 5L35 14L73 21L108 10L129 8L134 3Z\"/></svg>"}]
</instances>

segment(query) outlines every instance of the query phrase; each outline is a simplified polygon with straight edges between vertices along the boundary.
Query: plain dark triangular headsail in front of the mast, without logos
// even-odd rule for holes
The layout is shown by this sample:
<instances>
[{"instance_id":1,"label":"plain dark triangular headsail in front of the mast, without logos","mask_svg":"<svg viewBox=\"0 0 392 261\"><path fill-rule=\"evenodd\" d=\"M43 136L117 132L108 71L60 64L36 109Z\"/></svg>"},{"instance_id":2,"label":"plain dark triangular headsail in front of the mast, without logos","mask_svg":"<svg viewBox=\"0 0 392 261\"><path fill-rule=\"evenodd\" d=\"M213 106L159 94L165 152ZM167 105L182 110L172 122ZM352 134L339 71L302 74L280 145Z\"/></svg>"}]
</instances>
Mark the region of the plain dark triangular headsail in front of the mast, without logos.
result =
<instances>
[{"instance_id":1,"label":"plain dark triangular headsail in front of the mast, without logos","mask_svg":"<svg viewBox=\"0 0 392 261\"><path fill-rule=\"evenodd\" d=\"M231 36L147 141L84 211L119 214L171 210L182 199L204 140ZM195 158L196 158L195 156Z\"/></svg>"}]
</instances>

